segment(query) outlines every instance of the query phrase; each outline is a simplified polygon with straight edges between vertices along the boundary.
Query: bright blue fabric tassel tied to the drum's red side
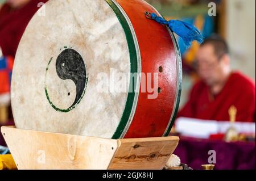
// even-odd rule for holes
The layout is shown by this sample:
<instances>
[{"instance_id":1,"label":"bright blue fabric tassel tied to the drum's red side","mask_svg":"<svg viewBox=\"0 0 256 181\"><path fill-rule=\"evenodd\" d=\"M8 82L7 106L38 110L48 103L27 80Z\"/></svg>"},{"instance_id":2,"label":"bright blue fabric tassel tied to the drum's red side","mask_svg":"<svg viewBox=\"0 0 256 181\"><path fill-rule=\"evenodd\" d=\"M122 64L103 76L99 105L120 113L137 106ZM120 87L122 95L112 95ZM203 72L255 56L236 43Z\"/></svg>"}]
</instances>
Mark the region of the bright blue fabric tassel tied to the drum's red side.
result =
<instances>
[{"instance_id":1,"label":"bright blue fabric tassel tied to the drum's red side","mask_svg":"<svg viewBox=\"0 0 256 181\"><path fill-rule=\"evenodd\" d=\"M167 21L154 13L151 14L151 19L154 19L160 24L166 24L172 32L175 32L183 39L187 48L191 47L191 43L194 40L200 44L204 41L204 36L196 27L192 26L192 24L182 22L181 20Z\"/></svg>"}]
</instances>

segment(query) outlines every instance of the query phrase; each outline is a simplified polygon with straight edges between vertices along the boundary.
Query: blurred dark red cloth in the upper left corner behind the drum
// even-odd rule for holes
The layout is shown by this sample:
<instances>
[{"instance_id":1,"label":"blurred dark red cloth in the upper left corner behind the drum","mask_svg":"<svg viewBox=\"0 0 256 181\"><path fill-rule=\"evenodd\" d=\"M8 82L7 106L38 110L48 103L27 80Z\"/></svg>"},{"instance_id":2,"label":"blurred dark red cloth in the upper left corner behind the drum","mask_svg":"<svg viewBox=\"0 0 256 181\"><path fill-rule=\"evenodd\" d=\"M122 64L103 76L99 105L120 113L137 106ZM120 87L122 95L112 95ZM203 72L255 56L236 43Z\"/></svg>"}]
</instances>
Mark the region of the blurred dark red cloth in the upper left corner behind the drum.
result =
<instances>
[{"instance_id":1,"label":"blurred dark red cloth in the upper left corner behind the drum","mask_svg":"<svg viewBox=\"0 0 256 181\"><path fill-rule=\"evenodd\" d=\"M39 2L47 0L31 0L20 9L13 10L7 4L0 10L0 47L4 56L15 57L19 41L28 22L39 9Z\"/></svg>"}]
</instances>

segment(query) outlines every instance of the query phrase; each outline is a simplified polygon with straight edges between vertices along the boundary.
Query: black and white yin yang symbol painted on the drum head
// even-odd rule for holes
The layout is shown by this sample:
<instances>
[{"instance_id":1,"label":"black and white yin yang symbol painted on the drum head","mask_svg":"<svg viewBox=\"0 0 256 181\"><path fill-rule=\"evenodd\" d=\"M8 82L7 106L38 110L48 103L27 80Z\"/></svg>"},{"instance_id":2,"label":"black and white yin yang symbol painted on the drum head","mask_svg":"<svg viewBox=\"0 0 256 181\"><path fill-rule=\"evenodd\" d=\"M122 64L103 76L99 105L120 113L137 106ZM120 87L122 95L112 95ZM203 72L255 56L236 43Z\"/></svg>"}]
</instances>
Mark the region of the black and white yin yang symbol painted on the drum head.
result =
<instances>
[{"instance_id":1,"label":"black and white yin yang symbol painted on the drum head","mask_svg":"<svg viewBox=\"0 0 256 181\"><path fill-rule=\"evenodd\" d=\"M51 104L56 111L69 112L80 103L85 94L88 78L86 76L84 60L79 52L72 48L66 48L56 58L55 71L53 71L54 64L51 64L51 62L52 58L46 69L46 79L48 79L47 85L45 86L46 97L49 104ZM49 69L52 70L51 73L48 72ZM69 81L69 86L65 86L65 81ZM71 81L73 82L72 85L75 85L75 87L71 86ZM59 85L55 85L55 82L59 82ZM65 89L63 89L63 87L65 87ZM73 89L72 92L75 95L71 95L69 89ZM50 91L52 92L51 96ZM55 92L55 94L53 94L53 92ZM63 102L65 108L55 104L54 99L56 99L56 94L59 96L57 99L58 102ZM65 99L70 99L71 97L75 98L75 100L68 106L67 100ZM70 100L68 103L70 104Z\"/></svg>"}]
</instances>

